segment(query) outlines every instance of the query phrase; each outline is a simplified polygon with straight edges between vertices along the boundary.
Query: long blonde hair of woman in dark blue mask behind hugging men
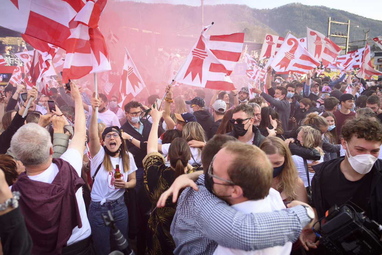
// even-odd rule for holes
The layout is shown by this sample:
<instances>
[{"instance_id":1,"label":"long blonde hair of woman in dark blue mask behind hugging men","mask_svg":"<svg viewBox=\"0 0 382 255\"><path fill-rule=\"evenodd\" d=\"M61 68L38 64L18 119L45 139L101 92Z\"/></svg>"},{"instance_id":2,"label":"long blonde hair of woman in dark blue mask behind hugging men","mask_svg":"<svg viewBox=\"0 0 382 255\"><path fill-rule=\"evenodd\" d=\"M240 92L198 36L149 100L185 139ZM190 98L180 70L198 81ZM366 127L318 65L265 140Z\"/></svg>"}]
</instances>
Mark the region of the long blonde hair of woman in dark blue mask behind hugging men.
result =
<instances>
[{"instance_id":1,"label":"long blonde hair of woman in dark blue mask behind hugging men","mask_svg":"<svg viewBox=\"0 0 382 255\"><path fill-rule=\"evenodd\" d=\"M283 140L275 136L265 137L260 145L260 149L267 155L280 154L284 157L284 168L279 175L275 189L278 192L284 192L286 201L295 200L297 197L297 179L298 171L295 162L292 159L292 154Z\"/></svg>"}]
</instances>

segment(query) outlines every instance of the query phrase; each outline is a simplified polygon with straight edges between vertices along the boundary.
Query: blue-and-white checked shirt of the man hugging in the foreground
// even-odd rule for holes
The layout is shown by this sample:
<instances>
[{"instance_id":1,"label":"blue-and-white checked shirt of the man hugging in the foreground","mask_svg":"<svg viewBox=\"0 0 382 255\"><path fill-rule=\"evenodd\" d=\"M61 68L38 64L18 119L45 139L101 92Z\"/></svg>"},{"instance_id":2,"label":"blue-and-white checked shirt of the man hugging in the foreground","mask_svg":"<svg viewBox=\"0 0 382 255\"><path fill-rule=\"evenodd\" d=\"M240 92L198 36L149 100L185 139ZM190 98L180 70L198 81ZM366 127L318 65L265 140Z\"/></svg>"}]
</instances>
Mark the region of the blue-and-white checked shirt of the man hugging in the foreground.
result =
<instances>
[{"instance_id":1,"label":"blue-and-white checked shirt of the man hugging in the foreground","mask_svg":"<svg viewBox=\"0 0 382 255\"><path fill-rule=\"evenodd\" d=\"M310 219L303 206L271 213L244 214L204 187L187 188L180 196L171 225L174 254L212 254L216 246L258 250L295 242Z\"/></svg>"}]
</instances>

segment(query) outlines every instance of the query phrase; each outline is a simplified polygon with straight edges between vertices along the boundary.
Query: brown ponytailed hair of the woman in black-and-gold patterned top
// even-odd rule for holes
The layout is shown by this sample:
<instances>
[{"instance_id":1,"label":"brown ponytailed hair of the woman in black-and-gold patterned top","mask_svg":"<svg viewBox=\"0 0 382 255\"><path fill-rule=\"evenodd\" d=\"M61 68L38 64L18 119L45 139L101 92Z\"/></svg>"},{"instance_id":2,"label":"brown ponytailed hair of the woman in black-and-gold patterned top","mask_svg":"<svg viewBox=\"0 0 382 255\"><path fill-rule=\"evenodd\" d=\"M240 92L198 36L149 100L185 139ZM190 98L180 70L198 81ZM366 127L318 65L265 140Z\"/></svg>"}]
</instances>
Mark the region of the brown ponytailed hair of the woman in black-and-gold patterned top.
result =
<instances>
[{"instance_id":1,"label":"brown ponytailed hair of the woman in black-and-gold patterned top","mask_svg":"<svg viewBox=\"0 0 382 255\"><path fill-rule=\"evenodd\" d=\"M186 140L183 138L175 138L168 148L168 158L170 158L170 166L175 169L174 179L185 173L185 167L191 158L191 149Z\"/></svg>"}]
</instances>

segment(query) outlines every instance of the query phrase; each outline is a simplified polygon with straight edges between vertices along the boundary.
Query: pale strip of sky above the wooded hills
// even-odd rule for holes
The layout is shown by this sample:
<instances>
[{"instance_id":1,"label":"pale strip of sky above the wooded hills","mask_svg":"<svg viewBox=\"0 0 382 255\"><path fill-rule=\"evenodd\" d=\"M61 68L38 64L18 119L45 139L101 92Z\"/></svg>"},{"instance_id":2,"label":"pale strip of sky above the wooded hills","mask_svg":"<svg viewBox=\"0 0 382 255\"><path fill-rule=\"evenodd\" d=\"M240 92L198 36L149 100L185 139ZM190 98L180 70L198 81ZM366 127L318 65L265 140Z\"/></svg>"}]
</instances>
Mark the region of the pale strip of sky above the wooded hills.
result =
<instances>
[{"instance_id":1,"label":"pale strip of sky above the wooded hills","mask_svg":"<svg viewBox=\"0 0 382 255\"><path fill-rule=\"evenodd\" d=\"M135 2L144 3L172 3L172 4L185 4L191 6L200 6L201 0L135 0ZM273 1L259 1L259 0L204 0L204 5L217 5L217 4L242 4L248 5L251 8L256 9L272 9L275 7L283 6L288 3L295 3L296 1L288 0L273 0ZM333 9L348 11L356 15L360 15L366 18L382 20L381 10L382 1L372 0L372 1L356 1L356 0L299 0L299 3L304 5L319 5L326 6ZM367 3L367 4L364 4Z\"/></svg>"}]
</instances>

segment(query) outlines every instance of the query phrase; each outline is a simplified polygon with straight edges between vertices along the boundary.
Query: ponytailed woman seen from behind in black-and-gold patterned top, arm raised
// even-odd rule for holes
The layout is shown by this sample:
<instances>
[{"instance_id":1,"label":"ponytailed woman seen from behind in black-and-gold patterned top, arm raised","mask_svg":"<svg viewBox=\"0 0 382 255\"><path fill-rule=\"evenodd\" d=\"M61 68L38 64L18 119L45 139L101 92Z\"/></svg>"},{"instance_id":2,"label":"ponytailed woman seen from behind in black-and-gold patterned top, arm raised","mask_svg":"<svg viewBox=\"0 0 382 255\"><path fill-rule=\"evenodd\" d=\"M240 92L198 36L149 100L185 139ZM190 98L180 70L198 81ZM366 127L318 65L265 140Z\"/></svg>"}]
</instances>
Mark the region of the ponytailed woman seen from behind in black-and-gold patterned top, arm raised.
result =
<instances>
[{"instance_id":1,"label":"ponytailed woman seen from behind in black-and-gold patterned top, arm raised","mask_svg":"<svg viewBox=\"0 0 382 255\"><path fill-rule=\"evenodd\" d=\"M156 103L155 107L151 107L153 123L147 141L147 155L143 159L144 187L152 205L146 233L146 252L149 255L172 254L175 249L170 226L176 203L172 203L172 198L168 198L164 207L157 208L156 205L160 195L170 188L176 177L195 170L188 163L191 150L187 142L180 137L172 140L167 152L170 167L165 165L165 159L158 152L158 125L162 113L163 111L157 110ZM187 123L185 127L191 123L194 122Z\"/></svg>"}]
</instances>

